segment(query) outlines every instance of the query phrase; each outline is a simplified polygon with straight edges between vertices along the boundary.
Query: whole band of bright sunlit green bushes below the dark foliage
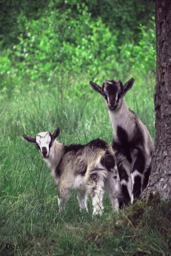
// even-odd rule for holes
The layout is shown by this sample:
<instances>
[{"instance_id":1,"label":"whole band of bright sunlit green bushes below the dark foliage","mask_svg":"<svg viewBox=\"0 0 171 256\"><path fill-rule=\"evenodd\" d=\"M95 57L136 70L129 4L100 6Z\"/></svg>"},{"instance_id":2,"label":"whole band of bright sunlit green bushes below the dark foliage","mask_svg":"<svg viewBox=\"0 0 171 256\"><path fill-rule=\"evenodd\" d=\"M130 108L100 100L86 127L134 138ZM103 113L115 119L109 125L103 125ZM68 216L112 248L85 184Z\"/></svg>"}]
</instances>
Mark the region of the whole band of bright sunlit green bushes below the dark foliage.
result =
<instances>
[{"instance_id":1,"label":"whole band of bright sunlit green bushes below the dark foliage","mask_svg":"<svg viewBox=\"0 0 171 256\"><path fill-rule=\"evenodd\" d=\"M22 87L27 81L31 87L58 84L63 92L64 82L79 74L100 82L127 79L131 73L135 77L139 71L146 77L155 74L154 21L153 29L139 27L142 39L138 45L127 39L117 47L118 31L106 27L100 17L92 18L84 3L72 3L77 10L70 5L57 8L55 1L50 1L44 14L35 20L20 12L20 43L1 53L1 91L11 96L14 87ZM82 79L80 89L83 83Z\"/></svg>"}]
</instances>

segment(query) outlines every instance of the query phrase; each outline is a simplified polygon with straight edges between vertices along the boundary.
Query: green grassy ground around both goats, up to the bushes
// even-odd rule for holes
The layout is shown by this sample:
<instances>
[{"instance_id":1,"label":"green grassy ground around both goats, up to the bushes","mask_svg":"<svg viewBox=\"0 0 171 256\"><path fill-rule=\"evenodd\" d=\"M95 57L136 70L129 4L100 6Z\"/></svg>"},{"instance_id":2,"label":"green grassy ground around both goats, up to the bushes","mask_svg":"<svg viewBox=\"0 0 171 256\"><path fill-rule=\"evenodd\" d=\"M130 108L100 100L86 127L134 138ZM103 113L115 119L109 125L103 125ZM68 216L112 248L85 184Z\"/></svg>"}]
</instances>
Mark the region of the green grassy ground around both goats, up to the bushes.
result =
<instances>
[{"instance_id":1,"label":"green grassy ground around both goats, up to the bushes","mask_svg":"<svg viewBox=\"0 0 171 256\"><path fill-rule=\"evenodd\" d=\"M153 140L154 84L138 77L126 95ZM92 217L91 200L88 213L80 213L73 192L61 214L50 170L35 146L22 139L23 133L35 136L59 126L64 144L97 137L112 144L104 100L86 77L64 79L60 90L24 82L9 87L0 103L0 255L170 255L170 202L151 197L116 214L105 195L104 215ZM6 249L8 243L20 248Z\"/></svg>"}]
</instances>

